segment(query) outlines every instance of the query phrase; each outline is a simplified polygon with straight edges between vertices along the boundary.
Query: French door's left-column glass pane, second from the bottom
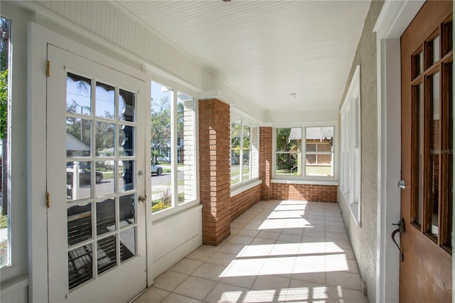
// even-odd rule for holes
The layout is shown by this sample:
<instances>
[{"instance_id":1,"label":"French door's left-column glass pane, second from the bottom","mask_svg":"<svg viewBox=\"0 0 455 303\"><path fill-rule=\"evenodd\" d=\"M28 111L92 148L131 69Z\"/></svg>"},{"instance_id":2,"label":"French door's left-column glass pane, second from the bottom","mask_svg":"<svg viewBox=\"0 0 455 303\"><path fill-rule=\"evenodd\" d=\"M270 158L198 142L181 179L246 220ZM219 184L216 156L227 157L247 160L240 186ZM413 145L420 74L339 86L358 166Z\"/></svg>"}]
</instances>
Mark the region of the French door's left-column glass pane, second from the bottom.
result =
<instances>
[{"instance_id":1,"label":"French door's left-column glass pane, second from the bottom","mask_svg":"<svg viewBox=\"0 0 455 303\"><path fill-rule=\"evenodd\" d=\"M92 204L68 208L68 245L92 238Z\"/></svg>"}]
</instances>

